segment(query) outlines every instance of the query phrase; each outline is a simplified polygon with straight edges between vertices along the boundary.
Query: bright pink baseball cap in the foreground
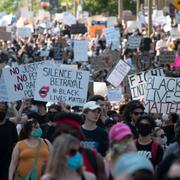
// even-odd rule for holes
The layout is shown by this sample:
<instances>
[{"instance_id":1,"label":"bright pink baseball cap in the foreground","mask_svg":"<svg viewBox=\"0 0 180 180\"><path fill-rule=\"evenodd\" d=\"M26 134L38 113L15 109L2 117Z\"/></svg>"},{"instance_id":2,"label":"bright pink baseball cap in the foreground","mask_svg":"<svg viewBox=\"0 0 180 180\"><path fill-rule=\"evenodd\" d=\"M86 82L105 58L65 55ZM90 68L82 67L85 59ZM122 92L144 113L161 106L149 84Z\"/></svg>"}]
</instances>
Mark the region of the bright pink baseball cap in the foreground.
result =
<instances>
[{"instance_id":1,"label":"bright pink baseball cap in the foreground","mask_svg":"<svg viewBox=\"0 0 180 180\"><path fill-rule=\"evenodd\" d=\"M133 135L133 133L129 126L124 123L116 123L109 131L109 139L111 141L119 141L127 135Z\"/></svg>"}]
</instances>

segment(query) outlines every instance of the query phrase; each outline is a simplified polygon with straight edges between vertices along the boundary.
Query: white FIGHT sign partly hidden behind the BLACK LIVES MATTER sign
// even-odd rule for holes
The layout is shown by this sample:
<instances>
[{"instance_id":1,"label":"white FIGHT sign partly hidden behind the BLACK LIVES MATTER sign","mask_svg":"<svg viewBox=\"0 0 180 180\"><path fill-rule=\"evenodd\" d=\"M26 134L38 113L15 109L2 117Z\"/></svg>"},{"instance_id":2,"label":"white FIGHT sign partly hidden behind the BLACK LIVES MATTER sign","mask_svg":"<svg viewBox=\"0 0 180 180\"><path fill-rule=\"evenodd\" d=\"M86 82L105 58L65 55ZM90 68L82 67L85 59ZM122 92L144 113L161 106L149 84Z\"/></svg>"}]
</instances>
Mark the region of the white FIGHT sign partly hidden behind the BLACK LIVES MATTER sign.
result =
<instances>
[{"instance_id":1,"label":"white FIGHT sign partly hidden behind the BLACK LIVES MATTER sign","mask_svg":"<svg viewBox=\"0 0 180 180\"><path fill-rule=\"evenodd\" d=\"M131 74L128 76L133 100L144 99L148 76L164 76L163 69L151 69L149 71L143 71L138 74Z\"/></svg>"}]
</instances>

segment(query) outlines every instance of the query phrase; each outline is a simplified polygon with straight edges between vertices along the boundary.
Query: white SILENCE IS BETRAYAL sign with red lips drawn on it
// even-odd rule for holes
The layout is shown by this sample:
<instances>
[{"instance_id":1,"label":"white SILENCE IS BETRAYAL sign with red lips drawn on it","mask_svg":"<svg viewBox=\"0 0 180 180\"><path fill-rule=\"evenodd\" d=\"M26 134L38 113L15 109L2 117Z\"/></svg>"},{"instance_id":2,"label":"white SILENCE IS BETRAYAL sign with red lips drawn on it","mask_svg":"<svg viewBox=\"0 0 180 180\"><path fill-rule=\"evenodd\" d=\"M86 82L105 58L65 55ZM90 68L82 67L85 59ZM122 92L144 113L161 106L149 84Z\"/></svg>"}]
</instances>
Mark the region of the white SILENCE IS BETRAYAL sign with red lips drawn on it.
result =
<instances>
[{"instance_id":1,"label":"white SILENCE IS BETRAYAL sign with red lips drawn on it","mask_svg":"<svg viewBox=\"0 0 180 180\"><path fill-rule=\"evenodd\" d=\"M38 69L35 100L83 106L88 91L89 72L56 66Z\"/></svg>"}]
</instances>

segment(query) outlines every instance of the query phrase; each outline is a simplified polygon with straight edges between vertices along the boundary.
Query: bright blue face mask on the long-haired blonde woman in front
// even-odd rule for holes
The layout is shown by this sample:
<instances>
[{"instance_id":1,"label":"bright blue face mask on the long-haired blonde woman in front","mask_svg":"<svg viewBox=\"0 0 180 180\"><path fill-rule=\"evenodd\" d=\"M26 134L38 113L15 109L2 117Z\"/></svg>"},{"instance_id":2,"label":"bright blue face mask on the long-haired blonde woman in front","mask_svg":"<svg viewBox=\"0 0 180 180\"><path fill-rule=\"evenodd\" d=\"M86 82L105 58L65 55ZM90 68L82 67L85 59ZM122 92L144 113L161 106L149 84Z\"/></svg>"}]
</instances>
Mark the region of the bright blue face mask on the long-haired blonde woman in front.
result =
<instances>
[{"instance_id":1,"label":"bright blue face mask on the long-haired blonde woman in front","mask_svg":"<svg viewBox=\"0 0 180 180\"><path fill-rule=\"evenodd\" d=\"M72 170L77 170L83 165L83 157L77 152L74 156L69 156L67 159L67 167Z\"/></svg>"}]
</instances>

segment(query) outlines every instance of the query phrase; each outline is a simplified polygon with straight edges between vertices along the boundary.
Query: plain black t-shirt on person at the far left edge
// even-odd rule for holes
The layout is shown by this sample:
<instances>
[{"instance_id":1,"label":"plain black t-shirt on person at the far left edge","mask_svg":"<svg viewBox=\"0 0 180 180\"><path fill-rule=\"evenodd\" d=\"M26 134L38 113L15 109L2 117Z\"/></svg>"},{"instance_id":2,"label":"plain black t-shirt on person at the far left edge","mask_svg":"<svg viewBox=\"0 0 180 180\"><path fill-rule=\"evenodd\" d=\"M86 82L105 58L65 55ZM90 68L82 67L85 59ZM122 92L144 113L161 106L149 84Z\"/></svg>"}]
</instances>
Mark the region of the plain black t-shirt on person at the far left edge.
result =
<instances>
[{"instance_id":1,"label":"plain black t-shirt on person at the far left edge","mask_svg":"<svg viewBox=\"0 0 180 180\"><path fill-rule=\"evenodd\" d=\"M0 179L1 173L8 174L12 150L17 140L16 126L12 122L7 120L4 124L0 125Z\"/></svg>"}]
</instances>

